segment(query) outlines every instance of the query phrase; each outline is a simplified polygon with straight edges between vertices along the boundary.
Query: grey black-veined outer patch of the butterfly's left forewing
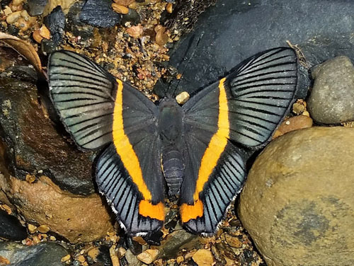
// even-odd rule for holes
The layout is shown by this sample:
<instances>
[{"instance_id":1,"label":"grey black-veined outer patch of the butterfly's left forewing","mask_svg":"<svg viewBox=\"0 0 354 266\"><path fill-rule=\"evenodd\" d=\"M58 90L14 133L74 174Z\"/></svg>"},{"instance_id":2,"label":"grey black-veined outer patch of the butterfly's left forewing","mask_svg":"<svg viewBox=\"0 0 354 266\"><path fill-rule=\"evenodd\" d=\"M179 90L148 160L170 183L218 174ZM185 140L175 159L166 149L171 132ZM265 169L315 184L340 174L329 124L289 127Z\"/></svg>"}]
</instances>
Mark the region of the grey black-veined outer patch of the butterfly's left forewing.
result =
<instances>
[{"instance_id":1,"label":"grey black-veined outer patch of the butterfly's left forewing","mask_svg":"<svg viewBox=\"0 0 354 266\"><path fill-rule=\"evenodd\" d=\"M76 144L99 149L112 140L116 83L107 71L69 51L51 54L50 96Z\"/></svg>"}]
</instances>

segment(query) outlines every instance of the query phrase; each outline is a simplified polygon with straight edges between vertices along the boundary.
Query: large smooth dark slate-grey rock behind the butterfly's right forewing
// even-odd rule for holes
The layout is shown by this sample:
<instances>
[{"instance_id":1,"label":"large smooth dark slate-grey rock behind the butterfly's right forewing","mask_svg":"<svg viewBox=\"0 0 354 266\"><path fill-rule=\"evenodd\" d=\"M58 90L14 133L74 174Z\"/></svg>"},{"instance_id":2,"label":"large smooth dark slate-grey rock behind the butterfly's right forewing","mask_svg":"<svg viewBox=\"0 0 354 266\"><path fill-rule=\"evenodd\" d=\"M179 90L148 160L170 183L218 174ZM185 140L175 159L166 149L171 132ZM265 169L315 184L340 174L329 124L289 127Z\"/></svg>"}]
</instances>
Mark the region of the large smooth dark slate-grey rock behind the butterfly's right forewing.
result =
<instances>
[{"instance_id":1,"label":"large smooth dark slate-grey rock behind the butterfly's right forewing","mask_svg":"<svg viewBox=\"0 0 354 266\"><path fill-rule=\"evenodd\" d=\"M353 8L354 1L217 1L171 53L171 65L183 72L176 93L207 86L253 54L287 46L286 40L299 46L308 67L336 55L353 61ZM299 69L298 98L307 95L308 69Z\"/></svg>"}]
</instances>

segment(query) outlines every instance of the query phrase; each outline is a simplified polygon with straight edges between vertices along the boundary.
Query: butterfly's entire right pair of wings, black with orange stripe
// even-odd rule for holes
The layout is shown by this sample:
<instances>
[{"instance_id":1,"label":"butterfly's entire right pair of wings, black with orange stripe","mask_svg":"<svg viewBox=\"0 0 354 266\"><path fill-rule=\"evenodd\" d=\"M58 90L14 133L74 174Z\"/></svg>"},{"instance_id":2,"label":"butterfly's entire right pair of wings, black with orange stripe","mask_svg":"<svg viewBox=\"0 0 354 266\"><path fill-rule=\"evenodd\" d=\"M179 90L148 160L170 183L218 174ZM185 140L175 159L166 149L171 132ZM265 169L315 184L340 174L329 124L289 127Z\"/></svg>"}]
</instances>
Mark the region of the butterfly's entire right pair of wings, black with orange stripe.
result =
<instances>
[{"instance_id":1,"label":"butterfly's entire right pair of wings, black with orange stripe","mask_svg":"<svg viewBox=\"0 0 354 266\"><path fill-rule=\"evenodd\" d=\"M242 62L185 105L185 178L181 219L195 233L214 233L245 180L239 149L264 145L293 100L296 56L275 48Z\"/></svg>"}]
</instances>

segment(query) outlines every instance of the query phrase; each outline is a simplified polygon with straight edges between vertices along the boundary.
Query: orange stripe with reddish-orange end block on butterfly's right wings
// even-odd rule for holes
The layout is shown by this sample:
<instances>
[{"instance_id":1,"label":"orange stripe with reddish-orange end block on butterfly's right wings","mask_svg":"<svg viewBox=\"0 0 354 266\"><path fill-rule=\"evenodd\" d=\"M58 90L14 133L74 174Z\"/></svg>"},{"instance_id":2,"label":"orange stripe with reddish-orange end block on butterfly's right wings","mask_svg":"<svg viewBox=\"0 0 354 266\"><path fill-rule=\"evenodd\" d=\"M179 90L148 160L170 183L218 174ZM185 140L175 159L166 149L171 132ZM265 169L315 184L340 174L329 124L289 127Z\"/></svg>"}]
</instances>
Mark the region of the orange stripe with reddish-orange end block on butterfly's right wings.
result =
<instances>
[{"instance_id":1,"label":"orange stripe with reddish-orange end block on butterfly's right wings","mask_svg":"<svg viewBox=\"0 0 354 266\"><path fill-rule=\"evenodd\" d=\"M183 222L202 216L202 202L199 199L199 193L202 192L205 183L209 180L212 170L217 166L217 161L219 161L227 145L230 130L229 107L227 105L227 94L224 87L225 79L226 78L219 81L219 117L217 120L217 132L212 136L212 139L210 139L209 145L202 156L197 184L193 194L194 204L188 205L183 203L181 205L181 219Z\"/></svg>"}]
</instances>

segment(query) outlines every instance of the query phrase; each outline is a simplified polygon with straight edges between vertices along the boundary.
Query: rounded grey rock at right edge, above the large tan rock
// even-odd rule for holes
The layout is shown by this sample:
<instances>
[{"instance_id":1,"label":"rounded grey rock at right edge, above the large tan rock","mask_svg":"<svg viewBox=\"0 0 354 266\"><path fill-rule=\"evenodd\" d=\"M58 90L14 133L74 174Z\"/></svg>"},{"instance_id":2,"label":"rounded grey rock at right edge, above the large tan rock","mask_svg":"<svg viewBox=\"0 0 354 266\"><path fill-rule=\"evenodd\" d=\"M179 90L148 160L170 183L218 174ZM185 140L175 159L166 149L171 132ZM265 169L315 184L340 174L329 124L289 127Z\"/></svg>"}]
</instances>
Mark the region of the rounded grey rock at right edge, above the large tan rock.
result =
<instances>
[{"instance_id":1,"label":"rounded grey rock at right edge, above the large tan rock","mask_svg":"<svg viewBox=\"0 0 354 266\"><path fill-rule=\"evenodd\" d=\"M348 57L335 57L312 72L314 86L308 100L316 122L339 124L354 120L354 67Z\"/></svg>"}]
</instances>

